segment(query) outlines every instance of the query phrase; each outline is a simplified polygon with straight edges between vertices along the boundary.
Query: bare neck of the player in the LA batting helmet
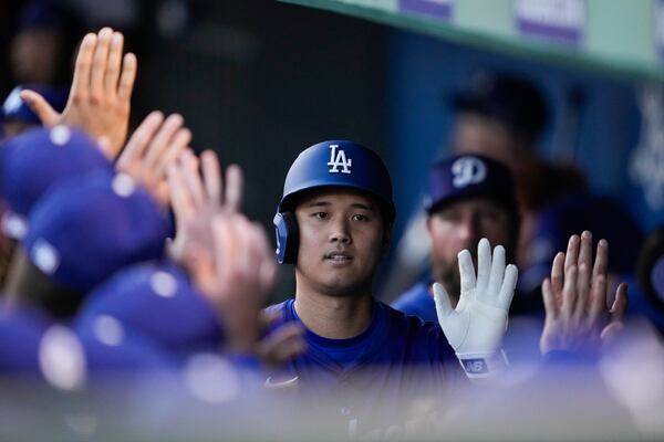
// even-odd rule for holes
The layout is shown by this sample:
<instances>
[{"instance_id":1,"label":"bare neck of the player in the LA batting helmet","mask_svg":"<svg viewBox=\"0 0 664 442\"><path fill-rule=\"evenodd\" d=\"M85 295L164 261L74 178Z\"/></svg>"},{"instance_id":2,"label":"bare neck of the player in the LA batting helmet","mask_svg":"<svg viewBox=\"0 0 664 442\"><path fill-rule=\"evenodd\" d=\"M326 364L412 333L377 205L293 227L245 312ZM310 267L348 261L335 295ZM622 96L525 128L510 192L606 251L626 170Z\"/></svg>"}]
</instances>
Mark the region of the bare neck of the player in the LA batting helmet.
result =
<instances>
[{"instance_id":1,"label":"bare neck of the player in the LA batting helmet","mask_svg":"<svg viewBox=\"0 0 664 442\"><path fill-rule=\"evenodd\" d=\"M360 296L329 296L298 291L295 312L311 332L330 339L347 339L371 325L373 297L371 291Z\"/></svg>"}]
</instances>

